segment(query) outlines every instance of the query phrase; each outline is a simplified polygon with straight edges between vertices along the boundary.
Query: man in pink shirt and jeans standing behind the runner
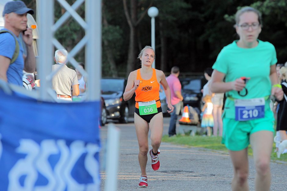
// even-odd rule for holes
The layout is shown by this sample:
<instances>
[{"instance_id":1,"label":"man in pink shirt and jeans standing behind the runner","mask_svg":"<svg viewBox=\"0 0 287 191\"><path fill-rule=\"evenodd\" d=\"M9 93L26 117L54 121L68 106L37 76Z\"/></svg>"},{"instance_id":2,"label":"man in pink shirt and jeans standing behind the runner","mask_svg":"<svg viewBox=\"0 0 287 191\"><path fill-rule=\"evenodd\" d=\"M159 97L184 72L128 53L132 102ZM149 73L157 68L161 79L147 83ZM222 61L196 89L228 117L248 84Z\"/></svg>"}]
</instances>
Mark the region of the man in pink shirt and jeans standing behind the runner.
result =
<instances>
[{"instance_id":1,"label":"man in pink shirt and jeans standing behind the runner","mask_svg":"<svg viewBox=\"0 0 287 191\"><path fill-rule=\"evenodd\" d=\"M176 120L182 107L183 97L181 95L180 80L178 79L179 73L179 68L177 66L173 66L171 74L166 78L171 92L171 104L174 107L173 112L170 113L169 136L176 135Z\"/></svg>"}]
</instances>

